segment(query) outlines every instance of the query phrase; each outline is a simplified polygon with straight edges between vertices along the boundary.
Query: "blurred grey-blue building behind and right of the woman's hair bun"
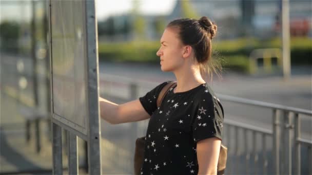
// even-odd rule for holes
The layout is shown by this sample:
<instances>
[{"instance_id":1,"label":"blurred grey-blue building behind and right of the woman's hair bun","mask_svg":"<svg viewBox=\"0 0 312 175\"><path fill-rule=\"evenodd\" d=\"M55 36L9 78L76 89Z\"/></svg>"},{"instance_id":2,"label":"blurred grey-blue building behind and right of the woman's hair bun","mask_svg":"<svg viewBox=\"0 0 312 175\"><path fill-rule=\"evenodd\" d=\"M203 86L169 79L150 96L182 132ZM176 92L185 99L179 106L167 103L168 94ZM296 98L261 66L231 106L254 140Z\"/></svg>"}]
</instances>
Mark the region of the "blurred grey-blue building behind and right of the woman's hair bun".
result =
<instances>
[{"instance_id":1,"label":"blurred grey-blue building behind and right of the woman's hair bun","mask_svg":"<svg viewBox=\"0 0 312 175\"><path fill-rule=\"evenodd\" d=\"M199 16L216 21L219 38L235 38L244 35L273 37L280 33L278 28L281 1L224 0L190 1ZM168 20L182 16L182 2L177 1ZM311 1L290 0L291 35L311 36Z\"/></svg>"}]
</instances>

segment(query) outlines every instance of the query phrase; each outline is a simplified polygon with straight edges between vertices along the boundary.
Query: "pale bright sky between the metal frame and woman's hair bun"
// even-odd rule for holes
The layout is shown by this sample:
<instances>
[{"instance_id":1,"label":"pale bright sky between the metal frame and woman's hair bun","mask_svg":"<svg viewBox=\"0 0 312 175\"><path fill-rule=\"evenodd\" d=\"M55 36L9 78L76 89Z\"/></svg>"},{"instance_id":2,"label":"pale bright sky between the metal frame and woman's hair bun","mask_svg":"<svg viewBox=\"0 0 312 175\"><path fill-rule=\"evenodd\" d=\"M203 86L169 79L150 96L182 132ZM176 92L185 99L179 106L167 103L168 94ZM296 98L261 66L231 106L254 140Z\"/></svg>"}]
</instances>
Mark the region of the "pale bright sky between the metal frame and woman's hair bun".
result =
<instances>
[{"instance_id":1,"label":"pale bright sky between the metal frame and woman's hair bun","mask_svg":"<svg viewBox=\"0 0 312 175\"><path fill-rule=\"evenodd\" d=\"M132 8L132 0L95 1L96 15L98 20L103 20L110 15L127 13ZM172 11L175 3L175 0L141 0L139 11L143 14L169 14Z\"/></svg>"}]
</instances>

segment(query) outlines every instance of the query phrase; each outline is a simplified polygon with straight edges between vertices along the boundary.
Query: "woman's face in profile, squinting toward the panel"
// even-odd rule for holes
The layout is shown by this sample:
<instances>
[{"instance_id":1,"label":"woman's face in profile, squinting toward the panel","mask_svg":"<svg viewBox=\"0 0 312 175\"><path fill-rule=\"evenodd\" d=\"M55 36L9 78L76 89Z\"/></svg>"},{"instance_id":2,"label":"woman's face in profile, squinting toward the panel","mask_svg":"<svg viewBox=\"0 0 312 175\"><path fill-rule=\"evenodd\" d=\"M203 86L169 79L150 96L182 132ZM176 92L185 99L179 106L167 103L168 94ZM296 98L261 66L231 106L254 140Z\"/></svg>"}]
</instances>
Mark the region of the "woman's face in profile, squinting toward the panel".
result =
<instances>
[{"instance_id":1,"label":"woman's face in profile, squinting toward the panel","mask_svg":"<svg viewBox=\"0 0 312 175\"><path fill-rule=\"evenodd\" d=\"M184 63L183 44L178 38L177 30L166 28L161 39L161 47L157 51L160 57L161 70L164 72L173 72Z\"/></svg>"}]
</instances>

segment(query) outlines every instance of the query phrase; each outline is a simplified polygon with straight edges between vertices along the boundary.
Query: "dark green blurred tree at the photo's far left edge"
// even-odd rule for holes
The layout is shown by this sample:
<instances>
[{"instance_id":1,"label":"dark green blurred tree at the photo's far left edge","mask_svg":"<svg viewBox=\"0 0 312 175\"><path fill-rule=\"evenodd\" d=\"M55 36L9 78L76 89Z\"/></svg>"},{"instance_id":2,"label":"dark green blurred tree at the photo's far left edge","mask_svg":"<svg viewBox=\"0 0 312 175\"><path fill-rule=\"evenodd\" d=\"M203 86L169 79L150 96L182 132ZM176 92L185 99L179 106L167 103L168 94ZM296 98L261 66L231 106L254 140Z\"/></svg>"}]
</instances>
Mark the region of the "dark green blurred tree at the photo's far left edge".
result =
<instances>
[{"instance_id":1,"label":"dark green blurred tree at the photo's far left edge","mask_svg":"<svg viewBox=\"0 0 312 175\"><path fill-rule=\"evenodd\" d=\"M20 26L13 21L4 21L0 24L1 49L16 52L18 49Z\"/></svg>"}]
</instances>

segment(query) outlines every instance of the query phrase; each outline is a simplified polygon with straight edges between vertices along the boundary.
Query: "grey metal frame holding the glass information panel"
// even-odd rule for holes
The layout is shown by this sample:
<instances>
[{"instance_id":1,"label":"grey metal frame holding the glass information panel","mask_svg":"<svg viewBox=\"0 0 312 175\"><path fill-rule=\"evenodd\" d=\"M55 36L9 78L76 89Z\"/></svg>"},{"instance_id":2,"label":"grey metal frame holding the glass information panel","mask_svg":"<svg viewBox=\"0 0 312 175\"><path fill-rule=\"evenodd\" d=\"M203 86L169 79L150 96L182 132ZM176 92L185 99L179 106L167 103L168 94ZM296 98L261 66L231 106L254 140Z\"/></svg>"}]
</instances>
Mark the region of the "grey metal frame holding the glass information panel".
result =
<instances>
[{"instance_id":1,"label":"grey metal frame holding the glass information panel","mask_svg":"<svg viewBox=\"0 0 312 175\"><path fill-rule=\"evenodd\" d=\"M52 153L53 153L53 174L62 174L62 128L68 131L69 149L69 171L77 172L77 151L76 136L88 142L88 167L90 174L102 174L101 168L101 120L99 111L99 62L97 58L97 23L95 16L94 0L84 1L85 3L85 25L86 32L86 101L87 101L87 128L84 132L77 129L77 125L70 123L67 119L54 113L53 109L53 70L52 70L52 35L51 35L51 0L47 5L49 14L49 54L50 54L50 87L51 87L51 119L52 119ZM72 125L73 124L73 125ZM73 126L73 127L72 127ZM78 125L79 126L79 125Z\"/></svg>"}]
</instances>

